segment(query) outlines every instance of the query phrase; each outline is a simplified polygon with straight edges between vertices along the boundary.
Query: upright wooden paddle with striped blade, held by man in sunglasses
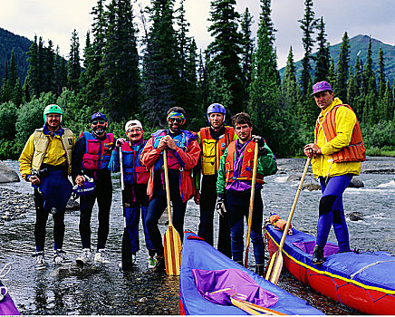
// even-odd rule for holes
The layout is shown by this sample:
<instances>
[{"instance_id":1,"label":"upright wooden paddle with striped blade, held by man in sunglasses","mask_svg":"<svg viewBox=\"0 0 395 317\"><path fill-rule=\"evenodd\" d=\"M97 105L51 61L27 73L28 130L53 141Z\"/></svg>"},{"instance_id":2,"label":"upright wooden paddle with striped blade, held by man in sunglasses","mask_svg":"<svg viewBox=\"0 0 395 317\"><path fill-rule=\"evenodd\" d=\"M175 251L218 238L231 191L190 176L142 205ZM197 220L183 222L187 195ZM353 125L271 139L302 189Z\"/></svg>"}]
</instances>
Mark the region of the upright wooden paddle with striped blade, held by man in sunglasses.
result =
<instances>
[{"instance_id":1,"label":"upright wooden paddle with striped blade, held by man in sunglasses","mask_svg":"<svg viewBox=\"0 0 395 317\"><path fill-rule=\"evenodd\" d=\"M169 213L169 227L165 233L165 265L166 274L168 275L179 275L180 268L180 255L181 255L181 239L179 238L176 228L173 226L173 219L171 217L171 206L170 206L170 188L169 188L169 168L167 149L163 150L163 167L165 169L165 186L166 186L166 198L168 200L168 213Z\"/></svg>"}]
</instances>

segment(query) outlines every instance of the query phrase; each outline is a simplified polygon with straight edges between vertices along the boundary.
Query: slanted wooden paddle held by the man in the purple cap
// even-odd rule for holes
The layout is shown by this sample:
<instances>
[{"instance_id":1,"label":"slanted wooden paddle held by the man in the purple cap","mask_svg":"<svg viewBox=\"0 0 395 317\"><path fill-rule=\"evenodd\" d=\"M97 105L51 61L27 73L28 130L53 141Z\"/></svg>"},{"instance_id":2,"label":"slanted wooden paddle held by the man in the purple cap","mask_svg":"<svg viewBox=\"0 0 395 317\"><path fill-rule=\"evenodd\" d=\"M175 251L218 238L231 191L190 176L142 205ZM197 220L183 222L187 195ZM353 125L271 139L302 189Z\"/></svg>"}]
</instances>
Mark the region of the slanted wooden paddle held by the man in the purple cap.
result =
<instances>
[{"instance_id":1,"label":"slanted wooden paddle held by the man in the purple cap","mask_svg":"<svg viewBox=\"0 0 395 317\"><path fill-rule=\"evenodd\" d=\"M270 258L270 262L267 265L265 279L268 280L269 282L274 283L274 284L278 283L278 279L280 277L281 270L283 269L283 246L284 246L284 242L285 242L285 237L288 234L289 226L291 226L291 220L292 220L292 217L294 216L294 209L296 207L296 203L298 201L299 194L302 190L303 180L304 180L304 177L306 176L307 168L309 168L309 164L310 164L310 158L307 159L307 161L306 161L306 165L303 170L301 182L299 184L298 190L296 191L296 196L294 197L294 204L291 208L291 212L289 213L288 220L286 221L286 226L285 226L284 233L283 233L283 236L280 241L280 245L278 246L278 250L275 251L275 253L272 255L272 257Z\"/></svg>"}]
</instances>

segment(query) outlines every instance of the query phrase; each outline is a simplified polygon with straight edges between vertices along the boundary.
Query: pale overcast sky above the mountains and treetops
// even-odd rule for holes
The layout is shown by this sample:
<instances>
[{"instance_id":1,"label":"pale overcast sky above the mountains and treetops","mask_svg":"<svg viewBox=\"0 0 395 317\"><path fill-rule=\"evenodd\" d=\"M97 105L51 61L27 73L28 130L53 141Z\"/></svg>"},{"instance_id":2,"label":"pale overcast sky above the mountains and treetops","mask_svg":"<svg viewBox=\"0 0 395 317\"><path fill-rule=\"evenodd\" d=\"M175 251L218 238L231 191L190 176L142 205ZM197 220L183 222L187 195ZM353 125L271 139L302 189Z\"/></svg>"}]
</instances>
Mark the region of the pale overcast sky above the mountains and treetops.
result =
<instances>
[{"instance_id":1,"label":"pale overcast sky above the mountains and treetops","mask_svg":"<svg viewBox=\"0 0 395 317\"><path fill-rule=\"evenodd\" d=\"M92 24L92 7L96 0L0 0L0 27L30 40L34 34L45 43L52 40L67 57L72 30L80 35L83 48L85 34ZM134 0L133 0L134 2ZM314 0L316 17L323 16L327 39L331 44L341 43L346 31L350 38L358 34L371 35L383 43L395 44L395 0ZM143 5L149 0L137 0ZM178 0L177 0L178 3ZM176 5L177 6L177 5ZM211 42L207 33L210 0L186 0L190 35L198 48L205 49ZM255 19L253 34L259 21L259 0L237 0L237 11L243 13L248 6ZM134 5L138 8L137 5ZM293 46L294 61L303 57L302 30L297 20L303 18L304 0L273 0L272 19L277 33L278 66L283 67ZM136 22L139 22L138 20Z\"/></svg>"}]
</instances>

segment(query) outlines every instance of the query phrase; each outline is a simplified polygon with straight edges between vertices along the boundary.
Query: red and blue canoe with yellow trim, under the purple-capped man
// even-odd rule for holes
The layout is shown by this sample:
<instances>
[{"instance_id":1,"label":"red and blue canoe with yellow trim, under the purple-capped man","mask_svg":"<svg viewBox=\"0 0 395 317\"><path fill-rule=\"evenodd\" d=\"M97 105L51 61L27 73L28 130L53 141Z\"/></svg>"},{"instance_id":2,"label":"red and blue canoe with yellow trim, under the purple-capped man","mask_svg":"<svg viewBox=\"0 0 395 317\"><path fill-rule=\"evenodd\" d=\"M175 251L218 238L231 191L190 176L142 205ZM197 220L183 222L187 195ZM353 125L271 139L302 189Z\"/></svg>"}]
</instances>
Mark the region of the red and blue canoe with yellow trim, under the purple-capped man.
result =
<instances>
[{"instance_id":1,"label":"red and blue canoe with yellow trim, under the purple-capped man","mask_svg":"<svg viewBox=\"0 0 395 317\"><path fill-rule=\"evenodd\" d=\"M283 232L265 226L270 255L280 244ZM325 262L312 263L315 236L293 228L284 242L284 267L296 279L318 293L368 314L395 314L395 257L386 252L338 253L338 245L324 247Z\"/></svg>"}]
</instances>

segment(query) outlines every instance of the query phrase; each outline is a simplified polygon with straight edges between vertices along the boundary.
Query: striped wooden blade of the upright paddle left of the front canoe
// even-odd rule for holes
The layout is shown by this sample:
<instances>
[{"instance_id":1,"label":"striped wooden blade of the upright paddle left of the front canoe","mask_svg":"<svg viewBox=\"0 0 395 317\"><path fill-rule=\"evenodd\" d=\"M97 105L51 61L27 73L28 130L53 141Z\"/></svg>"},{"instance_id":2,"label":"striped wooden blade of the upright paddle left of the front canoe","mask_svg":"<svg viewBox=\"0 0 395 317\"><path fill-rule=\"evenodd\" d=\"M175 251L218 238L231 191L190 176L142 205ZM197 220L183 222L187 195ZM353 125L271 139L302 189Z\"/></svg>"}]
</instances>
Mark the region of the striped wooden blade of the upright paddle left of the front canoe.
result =
<instances>
[{"instance_id":1,"label":"striped wooden blade of the upright paddle left of the front canoe","mask_svg":"<svg viewBox=\"0 0 395 317\"><path fill-rule=\"evenodd\" d=\"M166 230L164 240L166 274L179 275L182 245L174 226L169 226Z\"/></svg>"}]
</instances>

